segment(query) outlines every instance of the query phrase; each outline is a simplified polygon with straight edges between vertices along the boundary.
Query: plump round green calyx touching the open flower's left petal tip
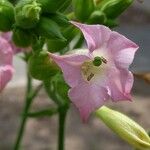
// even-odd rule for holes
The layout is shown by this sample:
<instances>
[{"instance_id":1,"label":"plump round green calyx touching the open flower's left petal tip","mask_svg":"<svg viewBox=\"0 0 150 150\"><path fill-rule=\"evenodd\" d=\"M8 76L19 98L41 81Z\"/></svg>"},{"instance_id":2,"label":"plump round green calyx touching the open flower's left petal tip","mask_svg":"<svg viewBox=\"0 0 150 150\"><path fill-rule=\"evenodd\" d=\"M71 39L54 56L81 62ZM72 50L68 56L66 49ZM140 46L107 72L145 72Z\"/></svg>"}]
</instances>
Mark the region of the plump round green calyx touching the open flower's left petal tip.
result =
<instances>
[{"instance_id":1,"label":"plump round green calyx touching the open flower's left petal tip","mask_svg":"<svg viewBox=\"0 0 150 150\"><path fill-rule=\"evenodd\" d=\"M50 59L47 52L35 53L29 58L29 73L37 80L47 80L58 71L58 66Z\"/></svg>"}]
</instances>

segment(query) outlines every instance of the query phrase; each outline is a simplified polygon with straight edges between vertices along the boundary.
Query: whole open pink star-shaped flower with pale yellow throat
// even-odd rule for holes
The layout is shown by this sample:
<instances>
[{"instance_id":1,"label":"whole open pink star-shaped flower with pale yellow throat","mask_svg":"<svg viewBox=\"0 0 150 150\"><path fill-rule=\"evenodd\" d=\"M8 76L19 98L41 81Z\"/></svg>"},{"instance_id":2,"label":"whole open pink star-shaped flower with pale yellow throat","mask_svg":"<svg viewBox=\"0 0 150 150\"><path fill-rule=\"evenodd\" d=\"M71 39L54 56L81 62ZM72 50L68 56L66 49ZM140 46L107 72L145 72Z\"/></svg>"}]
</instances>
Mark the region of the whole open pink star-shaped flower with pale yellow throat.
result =
<instances>
[{"instance_id":1,"label":"whole open pink star-shaped flower with pale yellow throat","mask_svg":"<svg viewBox=\"0 0 150 150\"><path fill-rule=\"evenodd\" d=\"M113 102L131 100L133 75L128 67L138 46L105 26L72 24L82 31L88 49L50 57L62 69L71 87L69 97L86 121L109 98Z\"/></svg>"}]
</instances>

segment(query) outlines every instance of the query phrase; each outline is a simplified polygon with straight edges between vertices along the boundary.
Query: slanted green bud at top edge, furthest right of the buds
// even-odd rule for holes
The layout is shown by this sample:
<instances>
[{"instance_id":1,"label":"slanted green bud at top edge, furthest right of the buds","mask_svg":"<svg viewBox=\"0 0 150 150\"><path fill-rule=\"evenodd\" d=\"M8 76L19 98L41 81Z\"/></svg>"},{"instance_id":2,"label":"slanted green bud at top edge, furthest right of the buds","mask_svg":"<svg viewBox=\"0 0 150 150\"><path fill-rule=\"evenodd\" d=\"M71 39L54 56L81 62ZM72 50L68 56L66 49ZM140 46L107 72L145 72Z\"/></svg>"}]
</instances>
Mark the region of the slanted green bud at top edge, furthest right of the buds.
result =
<instances>
[{"instance_id":1,"label":"slanted green bud at top edge, furthest right of the buds","mask_svg":"<svg viewBox=\"0 0 150 150\"><path fill-rule=\"evenodd\" d=\"M97 5L97 8L105 13L107 18L115 19L125 11L133 0L103 0Z\"/></svg>"}]
</instances>

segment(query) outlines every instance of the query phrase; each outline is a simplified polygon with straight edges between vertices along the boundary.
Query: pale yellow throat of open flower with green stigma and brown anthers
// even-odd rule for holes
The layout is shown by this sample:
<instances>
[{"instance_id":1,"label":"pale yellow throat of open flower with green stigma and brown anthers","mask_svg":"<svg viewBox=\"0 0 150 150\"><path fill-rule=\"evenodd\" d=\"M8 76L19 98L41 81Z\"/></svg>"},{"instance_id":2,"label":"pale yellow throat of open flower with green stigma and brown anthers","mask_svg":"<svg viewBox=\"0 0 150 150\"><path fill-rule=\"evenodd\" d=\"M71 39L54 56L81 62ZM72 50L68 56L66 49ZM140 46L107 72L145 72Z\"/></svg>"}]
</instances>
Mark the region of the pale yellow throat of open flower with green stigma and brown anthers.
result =
<instances>
[{"instance_id":1,"label":"pale yellow throat of open flower with green stigma and brown anthers","mask_svg":"<svg viewBox=\"0 0 150 150\"><path fill-rule=\"evenodd\" d=\"M107 64L107 60L104 57L96 56L91 61L86 61L82 64L81 73L86 81L92 81L97 76L99 77L103 71L103 64Z\"/></svg>"}]
</instances>

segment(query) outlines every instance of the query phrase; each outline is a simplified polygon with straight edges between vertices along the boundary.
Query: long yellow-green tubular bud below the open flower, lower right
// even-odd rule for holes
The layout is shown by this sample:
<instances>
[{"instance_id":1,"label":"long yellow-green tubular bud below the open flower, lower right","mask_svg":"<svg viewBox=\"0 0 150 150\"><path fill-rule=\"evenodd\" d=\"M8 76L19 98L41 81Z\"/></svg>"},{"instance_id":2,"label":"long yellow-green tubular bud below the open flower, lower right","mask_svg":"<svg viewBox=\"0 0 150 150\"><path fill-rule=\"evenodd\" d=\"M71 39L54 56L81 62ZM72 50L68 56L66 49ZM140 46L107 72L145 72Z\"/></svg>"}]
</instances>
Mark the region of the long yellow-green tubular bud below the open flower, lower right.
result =
<instances>
[{"instance_id":1,"label":"long yellow-green tubular bud below the open flower, lower right","mask_svg":"<svg viewBox=\"0 0 150 150\"><path fill-rule=\"evenodd\" d=\"M96 111L100 118L113 132L139 150L150 150L150 137L135 121L124 114L105 106Z\"/></svg>"}]
</instances>

